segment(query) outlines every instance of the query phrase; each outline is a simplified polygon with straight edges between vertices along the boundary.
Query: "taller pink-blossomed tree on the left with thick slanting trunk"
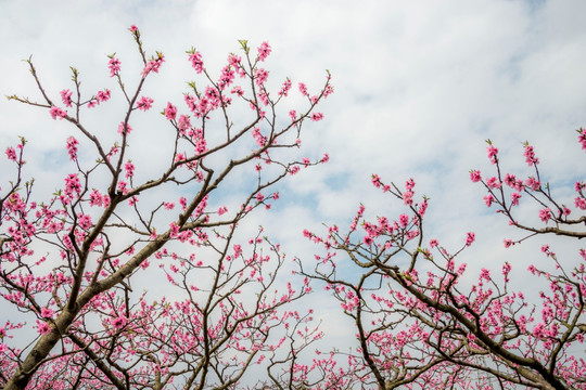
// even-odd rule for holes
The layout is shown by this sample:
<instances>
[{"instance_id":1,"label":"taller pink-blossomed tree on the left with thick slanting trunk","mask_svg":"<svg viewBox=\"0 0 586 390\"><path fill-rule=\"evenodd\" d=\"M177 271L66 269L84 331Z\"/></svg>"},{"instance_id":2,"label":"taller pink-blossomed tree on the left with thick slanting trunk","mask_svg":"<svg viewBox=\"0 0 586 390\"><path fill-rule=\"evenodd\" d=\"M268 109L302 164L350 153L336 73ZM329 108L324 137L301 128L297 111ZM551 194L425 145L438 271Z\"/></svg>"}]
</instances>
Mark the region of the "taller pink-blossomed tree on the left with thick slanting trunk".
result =
<instances>
[{"instance_id":1,"label":"taller pink-blossomed tree on the left with thick slanting trunk","mask_svg":"<svg viewBox=\"0 0 586 390\"><path fill-rule=\"evenodd\" d=\"M47 110L73 135L69 172L49 196L26 180L25 140L5 150L15 176L0 192L0 294L20 315L0 324L0 385L230 389L251 367L269 374L258 386L310 385L313 368L297 355L321 334L310 311L291 307L309 292L307 280L285 280L279 245L262 227L242 227L279 198L277 182L328 160L290 151L301 148L306 120L323 117L316 105L333 91L329 75L317 94L300 83L306 104L283 118L294 91L289 79L270 90L268 43L254 51L241 41L242 55L230 54L217 78L192 49L200 80L189 82L184 105L163 103L145 86L165 56L148 56L139 29L130 32L142 62L136 87L118 56L107 62L125 105L117 129L86 123L115 92L88 95L75 68L73 88L54 99L28 60L40 101L9 96ZM173 135L133 152L136 118L157 106ZM132 153L167 153L166 162L141 171Z\"/></svg>"}]
</instances>

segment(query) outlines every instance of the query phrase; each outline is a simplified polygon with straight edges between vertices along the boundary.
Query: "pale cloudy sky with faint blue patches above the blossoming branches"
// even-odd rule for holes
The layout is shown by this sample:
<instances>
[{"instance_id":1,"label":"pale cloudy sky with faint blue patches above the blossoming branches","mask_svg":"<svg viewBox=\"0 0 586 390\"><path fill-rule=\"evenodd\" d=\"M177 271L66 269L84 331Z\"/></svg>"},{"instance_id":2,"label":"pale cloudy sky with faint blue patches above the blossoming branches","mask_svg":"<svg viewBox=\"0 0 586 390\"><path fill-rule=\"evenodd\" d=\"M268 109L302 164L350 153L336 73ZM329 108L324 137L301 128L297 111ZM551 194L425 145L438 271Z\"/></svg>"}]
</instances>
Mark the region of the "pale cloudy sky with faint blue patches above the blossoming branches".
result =
<instances>
[{"instance_id":1,"label":"pale cloudy sky with faint blue patches above the blossoming branches","mask_svg":"<svg viewBox=\"0 0 586 390\"><path fill-rule=\"evenodd\" d=\"M522 156L528 141L556 194L571 202L585 158L575 142L575 129L586 127L585 14L581 0L0 0L0 94L38 96L21 61L30 55L54 96L71 87L69 65L88 91L103 88L107 54L129 67L138 60L127 31L132 24L148 52L166 56L151 94L168 99L180 99L192 77L184 56L191 47L219 72L239 39L252 47L268 41L266 66L276 80L291 77L317 90L331 72L335 93L320 108L324 119L306 129L303 150L328 153L330 161L290 178L280 203L251 223L311 261L317 248L304 240L304 227L344 225L359 203L372 214L391 212L396 203L371 188L371 174L402 185L413 178L418 194L431 198L430 238L457 247L474 231L471 272L507 259L522 271L542 242L506 251L502 238L514 232L486 209L469 171L491 170L491 139L502 164L528 172ZM7 100L0 118L0 146L25 135L29 169L39 172L39 187L51 188L64 123Z\"/></svg>"}]
</instances>

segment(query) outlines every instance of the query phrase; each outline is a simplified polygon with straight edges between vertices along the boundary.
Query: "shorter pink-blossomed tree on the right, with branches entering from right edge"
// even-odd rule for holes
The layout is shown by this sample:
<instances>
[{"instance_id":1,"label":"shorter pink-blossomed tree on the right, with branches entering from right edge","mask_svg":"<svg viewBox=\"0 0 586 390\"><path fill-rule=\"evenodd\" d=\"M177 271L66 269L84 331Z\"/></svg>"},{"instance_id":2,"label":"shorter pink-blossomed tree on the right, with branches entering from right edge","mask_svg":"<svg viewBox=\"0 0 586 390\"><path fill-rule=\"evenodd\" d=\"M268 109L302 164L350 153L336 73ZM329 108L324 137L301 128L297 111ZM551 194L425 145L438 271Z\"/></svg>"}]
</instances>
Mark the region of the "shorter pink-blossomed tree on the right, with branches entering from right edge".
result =
<instances>
[{"instance_id":1,"label":"shorter pink-blossomed tree on the right, with branches entering from right edge","mask_svg":"<svg viewBox=\"0 0 586 390\"><path fill-rule=\"evenodd\" d=\"M583 129L578 141L586 150ZM536 235L586 237L583 180L575 182L573 205L565 205L543 181L532 145L524 145L533 169L526 178L502 172L489 141L487 152L496 173L483 179L472 170L471 180L484 185L487 207L526 232L505 238L506 247ZM500 274L483 269L470 283L462 250L475 234L467 233L462 247L449 251L424 238L429 199L416 200L412 179L405 187L386 185L378 176L372 183L403 202L405 211L370 220L360 206L346 231L336 225L324 236L305 231L323 252L315 269L300 263L302 273L326 284L355 324L358 346L343 354L347 366L337 373L340 380L379 389L586 389L586 361L576 353L584 351L586 335L584 248L574 263L544 245L551 266L527 270L527 281L540 288L535 297L511 282L514 264L508 262ZM536 223L518 219L525 213L517 211L522 200L535 206Z\"/></svg>"}]
</instances>

